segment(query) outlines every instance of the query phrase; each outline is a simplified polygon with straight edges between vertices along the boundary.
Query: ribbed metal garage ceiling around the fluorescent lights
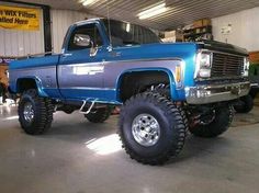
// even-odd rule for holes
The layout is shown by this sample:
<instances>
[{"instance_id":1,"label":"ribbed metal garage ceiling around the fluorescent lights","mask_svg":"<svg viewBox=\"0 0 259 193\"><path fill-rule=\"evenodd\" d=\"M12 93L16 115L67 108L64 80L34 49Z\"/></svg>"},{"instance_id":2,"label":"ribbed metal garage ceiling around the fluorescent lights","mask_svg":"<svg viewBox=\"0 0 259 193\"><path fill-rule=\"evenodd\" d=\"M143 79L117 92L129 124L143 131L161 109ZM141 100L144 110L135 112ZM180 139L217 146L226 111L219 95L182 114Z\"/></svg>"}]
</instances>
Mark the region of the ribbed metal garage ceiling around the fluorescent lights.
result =
<instances>
[{"instance_id":1,"label":"ribbed metal garage ceiling around the fluorescent lights","mask_svg":"<svg viewBox=\"0 0 259 193\"><path fill-rule=\"evenodd\" d=\"M85 11L93 15L106 16L143 24L157 30L176 29L203 18L217 18L241 10L259 7L258 0L97 0L83 7L79 0L20 0L48 4L54 9ZM166 2L166 12L139 20L137 14L153 4ZM109 9L108 9L109 8Z\"/></svg>"}]
</instances>

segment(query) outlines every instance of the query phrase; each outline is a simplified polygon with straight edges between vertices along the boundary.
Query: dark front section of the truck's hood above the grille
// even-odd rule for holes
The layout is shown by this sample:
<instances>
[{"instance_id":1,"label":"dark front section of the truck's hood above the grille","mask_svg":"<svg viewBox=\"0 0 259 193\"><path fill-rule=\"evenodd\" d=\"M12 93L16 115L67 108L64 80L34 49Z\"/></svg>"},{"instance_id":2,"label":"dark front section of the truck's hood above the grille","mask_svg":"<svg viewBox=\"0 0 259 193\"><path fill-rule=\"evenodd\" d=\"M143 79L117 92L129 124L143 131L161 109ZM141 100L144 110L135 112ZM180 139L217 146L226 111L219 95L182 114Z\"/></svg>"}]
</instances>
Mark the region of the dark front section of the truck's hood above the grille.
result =
<instances>
[{"instance_id":1,"label":"dark front section of the truck's hood above the grille","mask_svg":"<svg viewBox=\"0 0 259 193\"><path fill-rule=\"evenodd\" d=\"M199 45L199 48L203 48L203 49L248 56L247 49L238 47L238 46L234 46L232 44L222 43L222 42L203 41L201 43L198 43L198 45Z\"/></svg>"}]
</instances>

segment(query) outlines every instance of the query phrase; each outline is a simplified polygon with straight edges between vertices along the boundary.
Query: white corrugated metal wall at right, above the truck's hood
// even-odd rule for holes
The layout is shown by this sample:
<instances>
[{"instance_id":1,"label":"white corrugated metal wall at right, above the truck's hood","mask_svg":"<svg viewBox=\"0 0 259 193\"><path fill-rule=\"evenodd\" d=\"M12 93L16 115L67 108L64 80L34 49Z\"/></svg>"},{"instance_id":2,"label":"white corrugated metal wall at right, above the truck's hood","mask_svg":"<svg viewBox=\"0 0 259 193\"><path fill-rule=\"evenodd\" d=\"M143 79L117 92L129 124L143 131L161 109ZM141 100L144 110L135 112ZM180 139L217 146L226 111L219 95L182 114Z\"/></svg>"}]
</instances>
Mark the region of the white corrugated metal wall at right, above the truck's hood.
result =
<instances>
[{"instance_id":1,"label":"white corrugated metal wall at right, above the truck's hood","mask_svg":"<svg viewBox=\"0 0 259 193\"><path fill-rule=\"evenodd\" d=\"M247 48L259 50L259 7L212 20L215 41L228 42ZM229 34L223 34L222 29L232 24Z\"/></svg>"}]
</instances>

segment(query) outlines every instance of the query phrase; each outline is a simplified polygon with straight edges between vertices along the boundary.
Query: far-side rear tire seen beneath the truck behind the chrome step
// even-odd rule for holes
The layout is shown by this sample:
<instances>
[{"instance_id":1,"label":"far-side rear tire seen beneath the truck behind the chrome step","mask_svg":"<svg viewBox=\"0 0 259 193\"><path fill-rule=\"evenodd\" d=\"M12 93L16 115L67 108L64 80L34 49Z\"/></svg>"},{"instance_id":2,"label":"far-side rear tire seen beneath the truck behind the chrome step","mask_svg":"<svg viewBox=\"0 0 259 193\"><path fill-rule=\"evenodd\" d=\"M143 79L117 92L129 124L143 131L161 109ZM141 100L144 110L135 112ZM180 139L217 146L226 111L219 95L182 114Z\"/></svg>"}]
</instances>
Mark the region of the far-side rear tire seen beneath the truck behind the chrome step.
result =
<instances>
[{"instance_id":1,"label":"far-side rear tire seen beneath the truck behind the chrome step","mask_svg":"<svg viewBox=\"0 0 259 193\"><path fill-rule=\"evenodd\" d=\"M103 123L110 117L111 113L112 107L106 106L93 110L93 112L86 114L85 117L92 123Z\"/></svg>"}]
</instances>

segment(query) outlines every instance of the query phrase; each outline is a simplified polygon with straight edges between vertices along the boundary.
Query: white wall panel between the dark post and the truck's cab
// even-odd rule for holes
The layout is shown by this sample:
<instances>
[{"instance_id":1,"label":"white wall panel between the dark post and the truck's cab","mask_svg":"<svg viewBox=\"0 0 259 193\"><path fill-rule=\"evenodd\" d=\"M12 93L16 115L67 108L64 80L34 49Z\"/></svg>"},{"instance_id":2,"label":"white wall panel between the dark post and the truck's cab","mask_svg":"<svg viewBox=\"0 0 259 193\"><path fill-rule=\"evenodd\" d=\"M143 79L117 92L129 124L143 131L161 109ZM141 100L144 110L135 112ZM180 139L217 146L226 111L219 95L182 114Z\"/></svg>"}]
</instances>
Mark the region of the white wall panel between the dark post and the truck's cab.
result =
<instances>
[{"instance_id":1,"label":"white wall panel between the dark post and the truck's cab","mask_svg":"<svg viewBox=\"0 0 259 193\"><path fill-rule=\"evenodd\" d=\"M68 27L78 21L86 18L94 18L85 12L69 10L52 10L52 31L53 31L53 50L54 53L61 52L61 45Z\"/></svg>"}]
</instances>

